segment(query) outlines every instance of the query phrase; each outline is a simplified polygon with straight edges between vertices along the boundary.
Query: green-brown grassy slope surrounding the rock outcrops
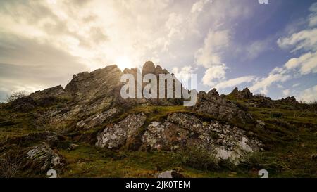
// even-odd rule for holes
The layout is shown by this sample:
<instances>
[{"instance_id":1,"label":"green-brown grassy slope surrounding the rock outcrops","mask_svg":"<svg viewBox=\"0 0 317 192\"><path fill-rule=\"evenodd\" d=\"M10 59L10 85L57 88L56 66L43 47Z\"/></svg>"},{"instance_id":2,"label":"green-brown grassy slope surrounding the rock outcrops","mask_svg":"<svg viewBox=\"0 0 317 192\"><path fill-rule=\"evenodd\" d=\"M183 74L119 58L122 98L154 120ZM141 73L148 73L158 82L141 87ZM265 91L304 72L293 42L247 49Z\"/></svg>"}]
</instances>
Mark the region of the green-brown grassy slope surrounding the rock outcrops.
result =
<instances>
[{"instance_id":1,"label":"green-brown grassy slope surrounding the rock outcrops","mask_svg":"<svg viewBox=\"0 0 317 192\"><path fill-rule=\"evenodd\" d=\"M54 107L57 106L51 106ZM0 110L0 141L47 129L58 131L35 124L33 114L41 110L44 109L36 108L29 113ZM149 123L162 120L168 113L191 113L190 111L190 108L182 106L137 107L125 111L113 122L136 112L146 113L146 123ZM254 155L251 162L244 167L198 170L182 164L174 154L168 152L107 151L87 143L78 143L80 148L75 151L58 148L58 153L68 162L61 177L154 177L157 165L163 170L179 169L186 177L257 177L256 170L252 168L268 169L270 177L316 177L317 164L311 160L311 155L317 153L316 113L271 108L250 108L249 112L256 120L266 122L266 128L261 129L251 124L242 125L241 128L247 130L248 134L258 135L267 148L266 151ZM275 117L275 113L281 113L282 117ZM96 132L103 126L82 134Z\"/></svg>"}]
</instances>

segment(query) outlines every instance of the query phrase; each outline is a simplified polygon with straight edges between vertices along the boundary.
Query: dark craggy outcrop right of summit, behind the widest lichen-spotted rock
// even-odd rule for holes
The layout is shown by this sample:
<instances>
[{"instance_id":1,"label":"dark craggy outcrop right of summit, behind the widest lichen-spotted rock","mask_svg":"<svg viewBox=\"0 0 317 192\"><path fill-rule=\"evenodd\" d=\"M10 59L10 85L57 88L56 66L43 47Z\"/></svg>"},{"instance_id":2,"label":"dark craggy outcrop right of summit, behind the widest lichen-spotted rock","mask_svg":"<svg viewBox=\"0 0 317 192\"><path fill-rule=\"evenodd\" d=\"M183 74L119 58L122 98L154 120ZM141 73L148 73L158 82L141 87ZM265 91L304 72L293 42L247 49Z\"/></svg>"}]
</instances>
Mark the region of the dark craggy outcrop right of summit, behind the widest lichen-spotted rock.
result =
<instances>
[{"instance_id":1,"label":"dark craggy outcrop right of summit, behind the widest lichen-spotted rock","mask_svg":"<svg viewBox=\"0 0 317 192\"><path fill-rule=\"evenodd\" d=\"M200 91L194 110L229 121L238 120L244 123L251 119L251 114L246 113L235 103L219 96L216 89L212 89L208 94Z\"/></svg>"}]
</instances>

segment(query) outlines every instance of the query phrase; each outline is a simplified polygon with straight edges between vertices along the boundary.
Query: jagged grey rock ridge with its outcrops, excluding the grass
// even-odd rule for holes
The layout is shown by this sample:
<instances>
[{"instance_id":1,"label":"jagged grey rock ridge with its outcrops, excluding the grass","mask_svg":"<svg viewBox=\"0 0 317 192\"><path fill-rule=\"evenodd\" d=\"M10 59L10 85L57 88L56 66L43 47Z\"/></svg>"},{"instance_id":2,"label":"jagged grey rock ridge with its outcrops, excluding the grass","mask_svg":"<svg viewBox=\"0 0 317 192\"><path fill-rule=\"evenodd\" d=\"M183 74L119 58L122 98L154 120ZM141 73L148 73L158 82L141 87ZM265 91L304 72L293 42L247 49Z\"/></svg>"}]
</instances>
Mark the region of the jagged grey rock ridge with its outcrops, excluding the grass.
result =
<instances>
[{"instance_id":1,"label":"jagged grey rock ridge with its outcrops, excluding the grass","mask_svg":"<svg viewBox=\"0 0 317 192\"><path fill-rule=\"evenodd\" d=\"M128 148L178 153L198 148L213 157L215 163L228 160L237 166L265 147L256 134L245 130L250 124L254 129L261 130L268 126L251 115L249 108L277 108L281 105L297 108L299 104L294 97L273 101L266 96L254 95L247 88L242 91L235 88L226 96L220 96L216 89L212 89L208 93L200 91L194 107L162 115L157 109L150 112L147 109L177 107L179 103L167 99L120 98L120 87L123 86L120 77L125 73L136 76L141 72L137 68L121 72L116 65L110 65L73 75L65 89L61 86L51 87L8 103L8 107L22 113L46 107L45 110L36 111L34 124L40 125L40 129L54 129L63 134L58 136L49 132L39 136L39 139L26 136L27 140L33 138L35 141L23 153L27 167L44 172L67 165L63 155L56 152L56 143L63 143L61 138L64 137L72 142L84 141L111 151ZM142 75L148 73L159 75L169 72L148 61L144 63ZM159 117L156 117L156 113ZM67 144L63 148L75 150L77 147L76 144Z\"/></svg>"}]
</instances>

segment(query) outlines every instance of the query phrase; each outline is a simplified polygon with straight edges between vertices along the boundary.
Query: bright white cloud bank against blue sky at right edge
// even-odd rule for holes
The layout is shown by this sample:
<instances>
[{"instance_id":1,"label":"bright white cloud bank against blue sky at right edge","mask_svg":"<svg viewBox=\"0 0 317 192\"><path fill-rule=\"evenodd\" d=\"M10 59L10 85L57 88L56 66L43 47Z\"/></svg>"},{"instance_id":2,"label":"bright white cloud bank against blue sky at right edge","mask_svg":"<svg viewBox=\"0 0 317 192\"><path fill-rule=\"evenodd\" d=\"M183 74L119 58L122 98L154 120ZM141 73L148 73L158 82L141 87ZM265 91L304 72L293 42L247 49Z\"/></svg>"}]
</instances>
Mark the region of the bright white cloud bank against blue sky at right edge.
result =
<instances>
[{"instance_id":1,"label":"bright white cloud bank against blue sky at right edge","mask_svg":"<svg viewBox=\"0 0 317 192\"><path fill-rule=\"evenodd\" d=\"M312 12L306 20L309 23L306 29L294 32L289 37L279 38L278 46L282 49L292 49L295 51L304 51L298 58L291 58L285 65L280 68L274 68L267 77L259 79L253 84L251 91L261 91L263 94L268 93L268 87L275 82L285 82L293 77L300 77L310 73L317 73L317 28L311 29L312 19L316 17L317 4L313 4L309 10ZM290 91L285 89L283 94L289 94Z\"/></svg>"}]
</instances>

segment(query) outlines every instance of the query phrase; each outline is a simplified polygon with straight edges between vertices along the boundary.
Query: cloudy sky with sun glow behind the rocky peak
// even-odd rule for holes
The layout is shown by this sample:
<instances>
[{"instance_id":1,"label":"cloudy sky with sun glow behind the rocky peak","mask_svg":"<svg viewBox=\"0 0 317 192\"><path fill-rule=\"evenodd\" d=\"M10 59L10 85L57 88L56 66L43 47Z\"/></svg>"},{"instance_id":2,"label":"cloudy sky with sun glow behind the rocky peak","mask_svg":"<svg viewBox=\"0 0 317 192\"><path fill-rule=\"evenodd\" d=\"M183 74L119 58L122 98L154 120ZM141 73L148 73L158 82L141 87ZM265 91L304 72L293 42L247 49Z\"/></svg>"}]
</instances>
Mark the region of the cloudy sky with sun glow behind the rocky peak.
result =
<instances>
[{"instance_id":1,"label":"cloudy sky with sun glow behind the rocky peak","mask_svg":"<svg viewBox=\"0 0 317 192\"><path fill-rule=\"evenodd\" d=\"M1 0L0 101L147 60L197 89L317 100L317 1Z\"/></svg>"}]
</instances>

